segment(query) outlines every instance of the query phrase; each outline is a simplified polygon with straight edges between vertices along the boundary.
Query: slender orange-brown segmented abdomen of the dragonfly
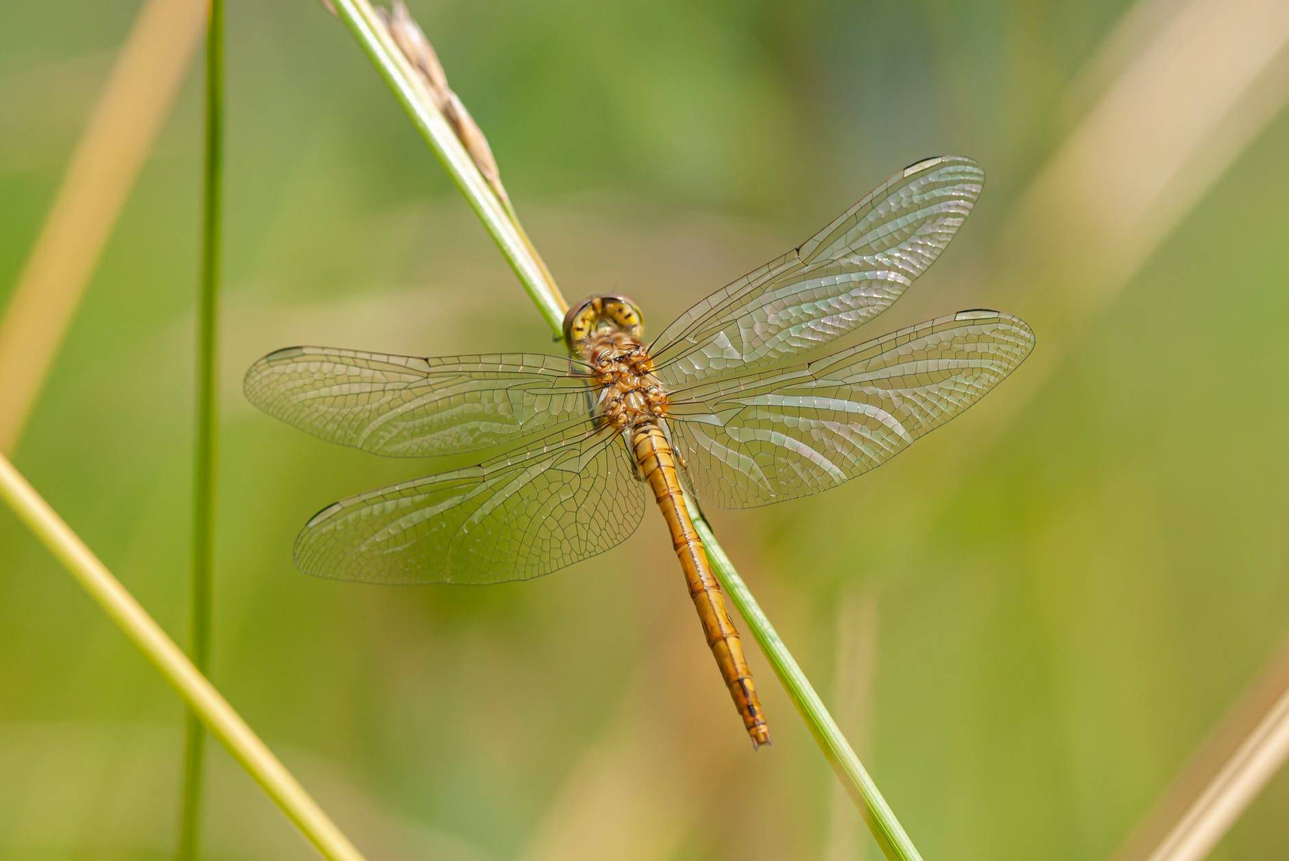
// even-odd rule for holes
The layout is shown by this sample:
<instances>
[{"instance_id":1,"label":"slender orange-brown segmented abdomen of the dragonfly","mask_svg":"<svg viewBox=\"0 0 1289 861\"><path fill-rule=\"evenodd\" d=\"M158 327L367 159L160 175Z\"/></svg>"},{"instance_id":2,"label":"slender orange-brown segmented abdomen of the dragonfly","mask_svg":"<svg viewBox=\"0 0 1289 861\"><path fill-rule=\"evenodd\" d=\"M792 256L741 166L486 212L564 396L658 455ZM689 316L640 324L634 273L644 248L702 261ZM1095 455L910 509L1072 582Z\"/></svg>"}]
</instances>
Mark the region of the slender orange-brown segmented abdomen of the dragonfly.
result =
<instances>
[{"instance_id":1,"label":"slender orange-brown segmented abdomen of the dragonfly","mask_svg":"<svg viewBox=\"0 0 1289 861\"><path fill-rule=\"evenodd\" d=\"M693 528L693 521L684 504L684 492L675 472L675 455L663 429L654 421L637 427L632 434L635 461L641 476L654 490L666 526L672 532L672 544L681 561L684 579L690 586L690 598L699 612L703 633L706 635L712 656L721 668L730 696L742 717L744 727L751 737L753 748L770 744L770 727L757 697L757 686L751 681L751 670L742 653L739 630L730 619L724 594L708 565L703 540Z\"/></svg>"}]
</instances>

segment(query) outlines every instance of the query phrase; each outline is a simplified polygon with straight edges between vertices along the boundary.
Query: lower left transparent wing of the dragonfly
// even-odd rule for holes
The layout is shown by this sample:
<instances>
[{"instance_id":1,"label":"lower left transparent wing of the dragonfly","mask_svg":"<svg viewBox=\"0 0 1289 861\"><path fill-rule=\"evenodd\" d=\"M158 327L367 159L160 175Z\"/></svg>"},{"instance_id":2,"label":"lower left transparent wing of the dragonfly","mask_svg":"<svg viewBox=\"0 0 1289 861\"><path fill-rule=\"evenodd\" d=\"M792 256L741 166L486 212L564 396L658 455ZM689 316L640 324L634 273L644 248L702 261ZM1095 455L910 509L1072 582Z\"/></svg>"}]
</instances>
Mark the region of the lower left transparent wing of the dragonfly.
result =
<instances>
[{"instance_id":1,"label":"lower left transparent wing of the dragonfly","mask_svg":"<svg viewBox=\"0 0 1289 861\"><path fill-rule=\"evenodd\" d=\"M528 580L620 544L644 510L616 430L340 500L295 539L305 574L363 583Z\"/></svg>"}]
</instances>

